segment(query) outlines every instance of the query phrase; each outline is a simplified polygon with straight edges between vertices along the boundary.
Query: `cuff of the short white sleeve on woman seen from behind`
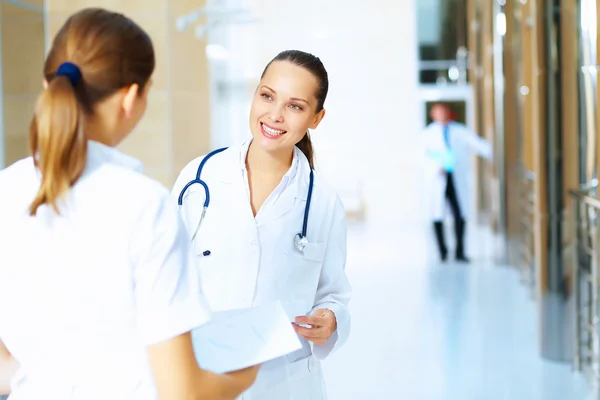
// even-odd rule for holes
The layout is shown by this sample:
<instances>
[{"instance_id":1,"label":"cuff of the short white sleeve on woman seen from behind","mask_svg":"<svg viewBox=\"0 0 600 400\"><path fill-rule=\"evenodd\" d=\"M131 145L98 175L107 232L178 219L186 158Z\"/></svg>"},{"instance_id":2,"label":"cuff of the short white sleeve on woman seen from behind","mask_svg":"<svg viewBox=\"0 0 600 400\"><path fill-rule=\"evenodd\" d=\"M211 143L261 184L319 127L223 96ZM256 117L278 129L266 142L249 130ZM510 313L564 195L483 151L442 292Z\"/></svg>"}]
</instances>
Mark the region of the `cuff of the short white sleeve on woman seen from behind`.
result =
<instances>
[{"instance_id":1,"label":"cuff of the short white sleeve on woman seen from behind","mask_svg":"<svg viewBox=\"0 0 600 400\"><path fill-rule=\"evenodd\" d=\"M208 306L198 299L190 299L174 308L152 310L138 320L142 340L147 346L164 342L204 325L211 319Z\"/></svg>"}]
</instances>

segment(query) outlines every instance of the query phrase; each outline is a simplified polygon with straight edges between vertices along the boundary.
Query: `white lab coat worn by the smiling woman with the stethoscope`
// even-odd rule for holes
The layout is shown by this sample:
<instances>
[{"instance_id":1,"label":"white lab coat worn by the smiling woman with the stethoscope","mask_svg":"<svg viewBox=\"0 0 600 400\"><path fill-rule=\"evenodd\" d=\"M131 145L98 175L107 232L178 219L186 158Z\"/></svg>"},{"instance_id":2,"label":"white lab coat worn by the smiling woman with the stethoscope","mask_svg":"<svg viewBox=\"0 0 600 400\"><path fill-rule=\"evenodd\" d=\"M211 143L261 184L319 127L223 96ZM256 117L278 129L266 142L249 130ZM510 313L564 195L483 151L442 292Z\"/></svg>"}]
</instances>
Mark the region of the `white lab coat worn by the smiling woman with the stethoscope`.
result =
<instances>
[{"instance_id":1,"label":"white lab coat worn by the smiling woman with the stethoscope","mask_svg":"<svg viewBox=\"0 0 600 400\"><path fill-rule=\"evenodd\" d=\"M338 329L324 345L302 340L304 348L261 368L244 400L322 400L326 398L319 360L344 344L350 332L351 288L346 263L346 218L336 193L315 172L304 253L294 246L301 231L310 167L296 149L295 174L277 197L267 199L256 218L250 207L245 154L249 142L208 160L201 178L210 189L210 205L194 241L202 287L213 311L248 308L281 300L288 311L310 315L332 310ZM177 198L196 176L203 157L190 162L173 188ZM281 189L281 188L280 188ZM190 237L204 202L195 184L183 198L182 215ZM203 252L209 250L209 256Z\"/></svg>"}]
</instances>

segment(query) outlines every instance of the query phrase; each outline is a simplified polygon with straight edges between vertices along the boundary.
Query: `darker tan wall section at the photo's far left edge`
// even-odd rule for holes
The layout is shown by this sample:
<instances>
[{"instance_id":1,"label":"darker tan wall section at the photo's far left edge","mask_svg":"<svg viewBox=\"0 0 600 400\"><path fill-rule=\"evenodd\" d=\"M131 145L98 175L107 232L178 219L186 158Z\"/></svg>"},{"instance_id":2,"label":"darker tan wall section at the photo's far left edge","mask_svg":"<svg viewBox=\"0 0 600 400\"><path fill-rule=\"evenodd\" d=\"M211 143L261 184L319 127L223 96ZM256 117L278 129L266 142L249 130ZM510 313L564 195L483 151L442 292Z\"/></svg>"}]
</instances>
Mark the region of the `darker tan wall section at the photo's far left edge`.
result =
<instances>
[{"instance_id":1,"label":"darker tan wall section at the photo's far left edge","mask_svg":"<svg viewBox=\"0 0 600 400\"><path fill-rule=\"evenodd\" d=\"M28 154L28 128L42 87L44 15L42 0L17 6L0 1L4 151L6 165ZM30 7L27 7L30 6Z\"/></svg>"}]
</instances>

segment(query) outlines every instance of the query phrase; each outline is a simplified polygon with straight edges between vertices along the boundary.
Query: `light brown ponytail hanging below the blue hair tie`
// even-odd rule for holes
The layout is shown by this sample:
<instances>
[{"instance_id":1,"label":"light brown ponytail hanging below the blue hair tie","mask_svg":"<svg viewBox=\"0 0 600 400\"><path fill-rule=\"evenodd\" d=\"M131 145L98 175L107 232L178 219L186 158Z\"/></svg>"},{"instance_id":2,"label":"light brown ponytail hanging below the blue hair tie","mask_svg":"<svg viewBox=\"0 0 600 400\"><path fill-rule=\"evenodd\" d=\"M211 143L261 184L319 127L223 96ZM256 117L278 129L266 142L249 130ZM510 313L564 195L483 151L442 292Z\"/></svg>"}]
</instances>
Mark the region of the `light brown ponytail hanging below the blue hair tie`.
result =
<instances>
[{"instance_id":1,"label":"light brown ponytail hanging below the blue hair tie","mask_svg":"<svg viewBox=\"0 0 600 400\"><path fill-rule=\"evenodd\" d=\"M41 183L29 206L31 216L44 204L60 214L58 200L85 169L87 139L75 86L69 77L56 76L38 98L29 128L29 147Z\"/></svg>"}]
</instances>

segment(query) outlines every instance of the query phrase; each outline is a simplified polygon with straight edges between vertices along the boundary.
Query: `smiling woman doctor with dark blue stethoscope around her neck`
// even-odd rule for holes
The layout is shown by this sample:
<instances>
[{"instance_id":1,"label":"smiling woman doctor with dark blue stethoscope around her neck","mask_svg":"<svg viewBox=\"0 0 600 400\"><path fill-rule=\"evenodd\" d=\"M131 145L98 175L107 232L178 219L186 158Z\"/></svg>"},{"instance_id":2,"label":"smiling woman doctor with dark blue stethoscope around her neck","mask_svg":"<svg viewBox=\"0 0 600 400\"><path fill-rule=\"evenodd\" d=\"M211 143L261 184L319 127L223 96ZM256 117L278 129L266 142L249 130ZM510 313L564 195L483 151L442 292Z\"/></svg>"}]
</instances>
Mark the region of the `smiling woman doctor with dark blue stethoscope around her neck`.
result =
<instances>
[{"instance_id":1,"label":"smiling woman doctor with dark blue stethoscope around her neck","mask_svg":"<svg viewBox=\"0 0 600 400\"><path fill-rule=\"evenodd\" d=\"M313 171L308 134L327 91L319 58L280 53L252 102L252 138L193 160L173 188L211 308L281 300L302 338L302 350L263 365L244 400L325 399L319 360L350 331L345 210Z\"/></svg>"}]
</instances>

